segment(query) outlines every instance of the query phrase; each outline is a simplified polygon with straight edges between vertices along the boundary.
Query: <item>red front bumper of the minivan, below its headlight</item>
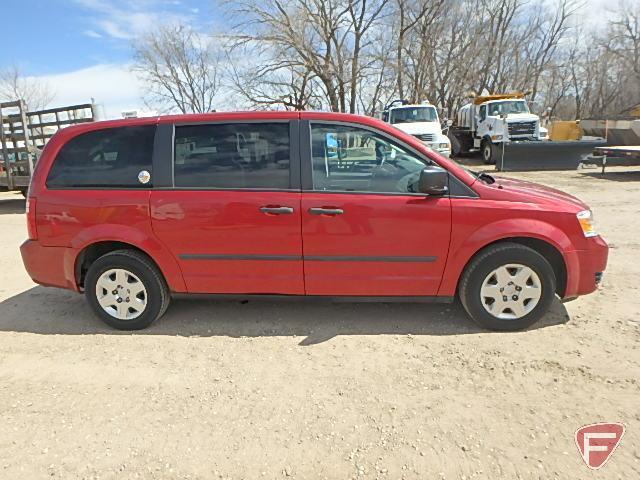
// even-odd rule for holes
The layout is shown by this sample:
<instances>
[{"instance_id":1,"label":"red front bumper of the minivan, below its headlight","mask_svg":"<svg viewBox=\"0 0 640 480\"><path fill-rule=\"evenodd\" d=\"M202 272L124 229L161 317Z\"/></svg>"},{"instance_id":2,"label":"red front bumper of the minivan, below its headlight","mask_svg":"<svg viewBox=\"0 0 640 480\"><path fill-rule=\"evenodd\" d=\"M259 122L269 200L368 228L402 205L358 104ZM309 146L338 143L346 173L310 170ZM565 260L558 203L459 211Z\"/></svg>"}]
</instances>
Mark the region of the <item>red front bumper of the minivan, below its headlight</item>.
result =
<instances>
[{"instance_id":1,"label":"red front bumper of the minivan, below its headlight","mask_svg":"<svg viewBox=\"0 0 640 480\"><path fill-rule=\"evenodd\" d=\"M607 268L609 246L600 236L588 240L588 248L568 254L567 288L564 298L572 298L594 292L602 281Z\"/></svg>"}]
</instances>

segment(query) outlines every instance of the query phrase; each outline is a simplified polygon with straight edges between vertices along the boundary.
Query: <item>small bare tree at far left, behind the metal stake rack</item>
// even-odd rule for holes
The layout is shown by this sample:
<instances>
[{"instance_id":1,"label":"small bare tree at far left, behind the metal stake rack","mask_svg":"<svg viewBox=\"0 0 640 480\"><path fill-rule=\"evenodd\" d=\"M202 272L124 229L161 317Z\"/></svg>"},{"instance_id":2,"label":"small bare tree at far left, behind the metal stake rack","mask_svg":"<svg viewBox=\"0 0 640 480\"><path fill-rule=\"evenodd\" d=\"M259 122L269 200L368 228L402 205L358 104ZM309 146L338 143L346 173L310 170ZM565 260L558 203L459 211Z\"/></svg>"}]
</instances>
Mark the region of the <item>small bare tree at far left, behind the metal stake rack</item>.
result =
<instances>
[{"instance_id":1,"label":"small bare tree at far left, behind the metal stake rack","mask_svg":"<svg viewBox=\"0 0 640 480\"><path fill-rule=\"evenodd\" d=\"M25 76L19 66L0 70L0 101L22 100L29 110L42 110L54 98L46 81Z\"/></svg>"}]
</instances>

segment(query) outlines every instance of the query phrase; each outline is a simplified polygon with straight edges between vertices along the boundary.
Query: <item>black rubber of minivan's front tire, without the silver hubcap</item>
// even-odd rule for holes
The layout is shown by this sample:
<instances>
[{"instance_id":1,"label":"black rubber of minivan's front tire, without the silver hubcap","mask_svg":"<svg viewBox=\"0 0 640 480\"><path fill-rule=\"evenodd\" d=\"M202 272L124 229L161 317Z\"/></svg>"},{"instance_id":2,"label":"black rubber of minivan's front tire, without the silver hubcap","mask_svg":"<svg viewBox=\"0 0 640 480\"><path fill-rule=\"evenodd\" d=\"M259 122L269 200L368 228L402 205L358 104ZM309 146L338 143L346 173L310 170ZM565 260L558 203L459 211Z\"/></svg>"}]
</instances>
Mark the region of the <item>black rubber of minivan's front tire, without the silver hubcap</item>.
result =
<instances>
[{"instance_id":1,"label":"black rubber of minivan's front tire, without the silver hubcap","mask_svg":"<svg viewBox=\"0 0 640 480\"><path fill-rule=\"evenodd\" d=\"M525 316L517 319L495 317L483 306L480 292L487 276L500 266L521 264L532 269L540 279L542 293L538 304ZM489 330L521 330L533 325L547 313L556 291L556 277L545 257L518 243L498 243L480 251L467 265L460 279L458 294L471 318Z\"/></svg>"}]
</instances>

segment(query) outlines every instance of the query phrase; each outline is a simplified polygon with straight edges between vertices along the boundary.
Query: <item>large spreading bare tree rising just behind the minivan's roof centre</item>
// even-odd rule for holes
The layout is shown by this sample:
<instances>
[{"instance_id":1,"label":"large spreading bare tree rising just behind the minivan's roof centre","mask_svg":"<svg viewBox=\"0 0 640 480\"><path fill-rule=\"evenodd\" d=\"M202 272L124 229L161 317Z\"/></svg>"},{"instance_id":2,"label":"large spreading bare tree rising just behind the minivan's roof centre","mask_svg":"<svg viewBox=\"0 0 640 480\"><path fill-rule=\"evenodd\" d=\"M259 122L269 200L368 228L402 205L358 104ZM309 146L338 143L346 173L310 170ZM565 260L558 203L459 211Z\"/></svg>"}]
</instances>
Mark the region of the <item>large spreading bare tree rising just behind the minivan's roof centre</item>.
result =
<instances>
[{"instance_id":1,"label":"large spreading bare tree rising just behind the minivan's roof centre","mask_svg":"<svg viewBox=\"0 0 640 480\"><path fill-rule=\"evenodd\" d=\"M260 62L266 70L294 69L322 90L334 111L358 110L358 86L370 75L372 38L389 0L292 0L230 2L244 20L234 29L237 44L269 46L277 55ZM259 60L258 60L259 61ZM360 98L362 100L362 98ZM324 106L323 105L323 106Z\"/></svg>"}]
</instances>

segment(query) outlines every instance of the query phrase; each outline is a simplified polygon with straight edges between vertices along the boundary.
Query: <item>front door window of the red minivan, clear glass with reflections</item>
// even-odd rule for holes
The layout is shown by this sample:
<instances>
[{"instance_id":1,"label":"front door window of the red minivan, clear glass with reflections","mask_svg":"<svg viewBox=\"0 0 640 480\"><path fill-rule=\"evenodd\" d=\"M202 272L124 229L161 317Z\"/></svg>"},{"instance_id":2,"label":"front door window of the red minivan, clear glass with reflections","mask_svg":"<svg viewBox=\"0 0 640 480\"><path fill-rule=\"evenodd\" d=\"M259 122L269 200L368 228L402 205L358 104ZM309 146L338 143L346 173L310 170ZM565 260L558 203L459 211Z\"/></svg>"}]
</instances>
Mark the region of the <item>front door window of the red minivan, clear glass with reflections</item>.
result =
<instances>
[{"instance_id":1,"label":"front door window of the red minivan, clear glass with reflections","mask_svg":"<svg viewBox=\"0 0 640 480\"><path fill-rule=\"evenodd\" d=\"M430 163L371 130L311 125L313 189L414 193Z\"/></svg>"}]
</instances>

